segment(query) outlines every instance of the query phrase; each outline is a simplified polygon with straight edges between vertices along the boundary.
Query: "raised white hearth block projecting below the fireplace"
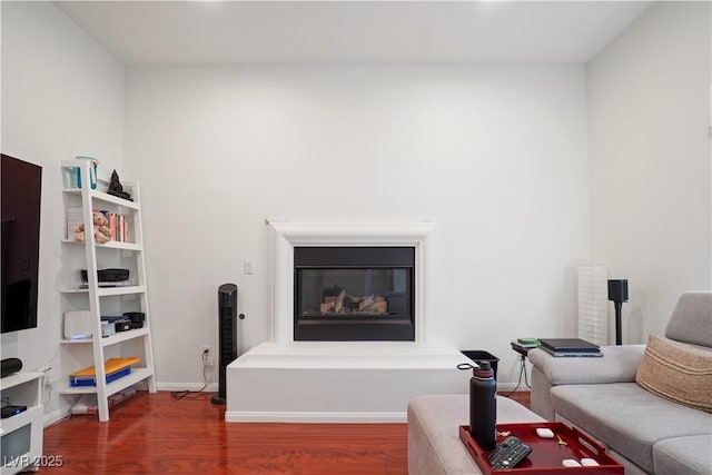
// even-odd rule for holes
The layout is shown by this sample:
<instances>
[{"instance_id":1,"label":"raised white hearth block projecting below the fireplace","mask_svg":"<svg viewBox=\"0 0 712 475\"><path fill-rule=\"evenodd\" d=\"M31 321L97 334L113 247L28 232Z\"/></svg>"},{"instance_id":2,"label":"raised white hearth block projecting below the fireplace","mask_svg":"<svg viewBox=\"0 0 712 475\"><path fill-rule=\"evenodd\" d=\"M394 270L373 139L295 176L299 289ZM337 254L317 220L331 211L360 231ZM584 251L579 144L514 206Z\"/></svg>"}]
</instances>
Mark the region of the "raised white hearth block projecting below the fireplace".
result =
<instances>
[{"instance_id":1,"label":"raised white hearth block projecting below the fireplace","mask_svg":"<svg viewBox=\"0 0 712 475\"><path fill-rule=\"evenodd\" d=\"M226 422L405 422L408 400L466 393L467 362L409 343L264 343L227 368Z\"/></svg>"}]
</instances>

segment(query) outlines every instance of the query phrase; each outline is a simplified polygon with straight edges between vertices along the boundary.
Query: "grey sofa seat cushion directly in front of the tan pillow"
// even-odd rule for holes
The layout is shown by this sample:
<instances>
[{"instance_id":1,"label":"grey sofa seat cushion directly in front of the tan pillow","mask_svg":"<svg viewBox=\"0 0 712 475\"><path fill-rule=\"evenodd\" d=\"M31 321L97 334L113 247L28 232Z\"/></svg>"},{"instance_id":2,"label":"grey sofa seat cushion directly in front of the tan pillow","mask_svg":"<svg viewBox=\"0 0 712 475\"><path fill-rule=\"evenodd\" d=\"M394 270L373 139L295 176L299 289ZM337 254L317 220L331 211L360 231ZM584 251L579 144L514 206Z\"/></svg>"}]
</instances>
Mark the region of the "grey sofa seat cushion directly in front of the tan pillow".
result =
<instances>
[{"instance_id":1,"label":"grey sofa seat cushion directly in front of the tan pillow","mask_svg":"<svg viewBox=\"0 0 712 475\"><path fill-rule=\"evenodd\" d=\"M712 428L712 414L663 399L635 383L555 386L551 396L557 415L649 473L654 472L653 444Z\"/></svg>"}]
</instances>

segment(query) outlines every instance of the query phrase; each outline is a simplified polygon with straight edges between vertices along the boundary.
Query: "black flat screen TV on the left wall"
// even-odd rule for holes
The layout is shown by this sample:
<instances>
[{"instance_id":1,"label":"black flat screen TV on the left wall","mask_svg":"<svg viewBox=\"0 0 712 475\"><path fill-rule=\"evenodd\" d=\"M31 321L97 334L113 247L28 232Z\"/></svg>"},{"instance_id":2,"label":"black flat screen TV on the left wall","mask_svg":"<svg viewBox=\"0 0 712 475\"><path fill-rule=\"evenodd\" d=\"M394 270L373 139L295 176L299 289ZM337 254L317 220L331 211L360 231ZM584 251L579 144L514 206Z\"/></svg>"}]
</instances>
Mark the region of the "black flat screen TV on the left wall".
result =
<instances>
[{"instance_id":1,"label":"black flat screen TV on the left wall","mask_svg":"<svg viewBox=\"0 0 712 475\"><path fill-rule=\"evenodd\" d=\"M37 327L42 167L2 155L2 333Z\"/></svg>"}]
</instances>

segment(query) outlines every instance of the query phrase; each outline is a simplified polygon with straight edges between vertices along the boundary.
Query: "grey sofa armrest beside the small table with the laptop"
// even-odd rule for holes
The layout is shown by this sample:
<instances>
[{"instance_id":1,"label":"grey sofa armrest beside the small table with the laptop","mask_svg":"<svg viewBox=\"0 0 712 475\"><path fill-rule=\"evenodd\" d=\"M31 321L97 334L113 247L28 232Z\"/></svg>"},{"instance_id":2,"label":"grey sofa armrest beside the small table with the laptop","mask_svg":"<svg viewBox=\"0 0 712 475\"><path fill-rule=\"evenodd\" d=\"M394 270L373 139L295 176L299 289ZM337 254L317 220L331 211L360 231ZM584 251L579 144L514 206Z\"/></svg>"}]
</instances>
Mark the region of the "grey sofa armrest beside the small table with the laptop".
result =
<instances>
[{"instance_id":1,"label":"grey sofa armrest beside the small table with the laptop","mask_svg":"<svg viewBox=\"0 0 712 475\"><path fill-rule=\"evenodd\" d=\"M645 345L602 346L600 358L554 357L534 348L527 356L552 386L635 382Z\"/></svg>"}]
</instances>

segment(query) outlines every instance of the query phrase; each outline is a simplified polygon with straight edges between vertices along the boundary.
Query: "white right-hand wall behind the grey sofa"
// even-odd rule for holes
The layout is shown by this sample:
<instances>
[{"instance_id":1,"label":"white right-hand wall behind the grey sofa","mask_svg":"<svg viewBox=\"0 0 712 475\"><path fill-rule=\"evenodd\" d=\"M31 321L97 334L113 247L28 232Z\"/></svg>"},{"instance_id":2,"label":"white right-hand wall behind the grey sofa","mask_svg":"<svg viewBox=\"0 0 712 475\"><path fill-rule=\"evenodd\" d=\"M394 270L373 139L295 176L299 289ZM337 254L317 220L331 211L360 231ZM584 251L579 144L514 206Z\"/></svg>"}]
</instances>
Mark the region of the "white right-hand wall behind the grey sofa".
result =
<instances>
[{"instance_id":1,"label":"white right-hand wall behind the grey sofa","mask_svg":"<svg viewBox=\"0 0 712 475\"><path fill-rule=\"evenodd\" d=\"M629 279L624 343L711 287L710 6L653 4L586 68L591 256Z\"/></svg>"}]
</instances>

